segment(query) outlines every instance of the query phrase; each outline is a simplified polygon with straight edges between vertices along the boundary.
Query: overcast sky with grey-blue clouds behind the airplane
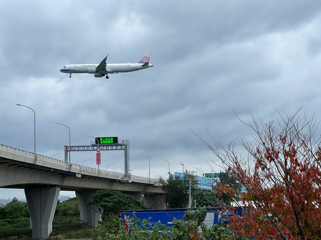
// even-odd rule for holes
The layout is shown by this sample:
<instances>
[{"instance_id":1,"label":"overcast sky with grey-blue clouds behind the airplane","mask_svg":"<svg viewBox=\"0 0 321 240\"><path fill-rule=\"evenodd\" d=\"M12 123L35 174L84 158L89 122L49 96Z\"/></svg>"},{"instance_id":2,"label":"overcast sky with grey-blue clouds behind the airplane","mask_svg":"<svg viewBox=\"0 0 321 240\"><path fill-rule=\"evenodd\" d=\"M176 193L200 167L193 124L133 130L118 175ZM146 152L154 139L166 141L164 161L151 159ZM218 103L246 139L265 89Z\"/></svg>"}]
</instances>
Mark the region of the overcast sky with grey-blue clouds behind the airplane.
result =
<instances>
[{"instance_id":1,"label":"overcast sky with grey-blue clouds behind the airplane","mask_svg":"<svg viewBox=\"0 0 321 240\"><path fill-rule=\"evenodd\" d=\"M320 1L2 1L0 6L0 143L63 160L64 145L91 136L130 140L133 175L151 177L202 167L215 156L211 134L229 143L262 121L320 107ZM67 64L140 60L153 68L110 75L68 74ZM71 162L97 167L95 152ZM100 169L124 172L122 151L103 151ZM220 169L214 166L214 169ZM197 170L198 171L198 170ZM199 171L198 171L199 174ZM165 176L166 177L166 176ZM73 192L61 195L74 196ZM0 189L0 198L24 199Z\"/></svg>"}]
</instances>

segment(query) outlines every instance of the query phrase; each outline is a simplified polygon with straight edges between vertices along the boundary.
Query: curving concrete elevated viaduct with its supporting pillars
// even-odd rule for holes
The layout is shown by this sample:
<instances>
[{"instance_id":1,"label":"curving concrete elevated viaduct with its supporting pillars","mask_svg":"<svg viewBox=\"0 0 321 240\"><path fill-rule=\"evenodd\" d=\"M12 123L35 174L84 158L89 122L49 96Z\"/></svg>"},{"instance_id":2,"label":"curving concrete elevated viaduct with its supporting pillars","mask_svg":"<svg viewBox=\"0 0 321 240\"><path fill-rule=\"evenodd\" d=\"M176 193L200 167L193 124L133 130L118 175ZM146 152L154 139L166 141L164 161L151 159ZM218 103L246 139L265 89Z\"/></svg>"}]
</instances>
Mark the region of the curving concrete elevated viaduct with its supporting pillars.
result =
<instances>
[{"instance_id":1,"label":"curving concrete elevated viaduct with its supporting pillars","mask_svg":"<svg viewBox=\"0 0 321 240\"><path fill-rule=\"evenodd\" d=\"M0 188L23 188L33 238L48 237L60 190L75 191L80 219L97 225L100 214L86 202L100 189L134 196L153 209L166 208L158 180L69 164L0 143Z\"/></svg>"}]
</instances>

